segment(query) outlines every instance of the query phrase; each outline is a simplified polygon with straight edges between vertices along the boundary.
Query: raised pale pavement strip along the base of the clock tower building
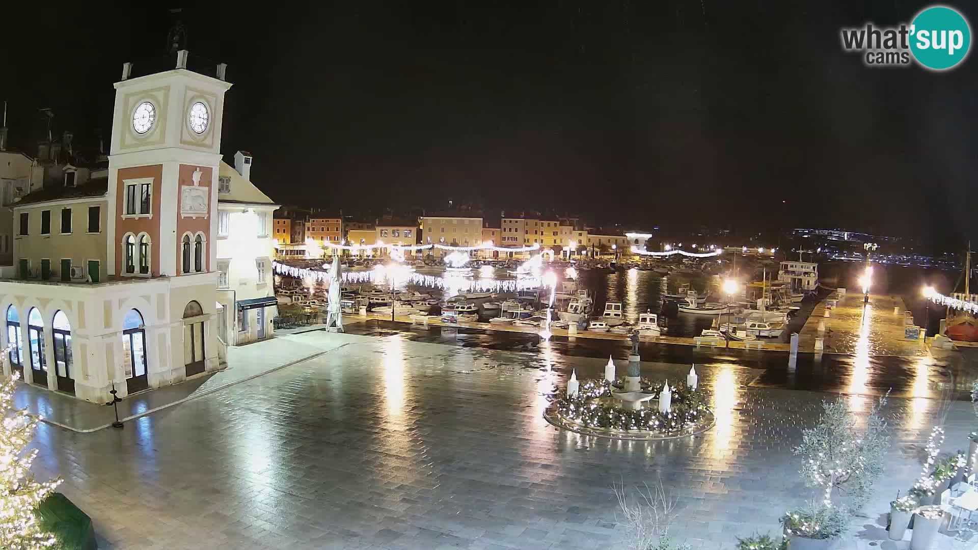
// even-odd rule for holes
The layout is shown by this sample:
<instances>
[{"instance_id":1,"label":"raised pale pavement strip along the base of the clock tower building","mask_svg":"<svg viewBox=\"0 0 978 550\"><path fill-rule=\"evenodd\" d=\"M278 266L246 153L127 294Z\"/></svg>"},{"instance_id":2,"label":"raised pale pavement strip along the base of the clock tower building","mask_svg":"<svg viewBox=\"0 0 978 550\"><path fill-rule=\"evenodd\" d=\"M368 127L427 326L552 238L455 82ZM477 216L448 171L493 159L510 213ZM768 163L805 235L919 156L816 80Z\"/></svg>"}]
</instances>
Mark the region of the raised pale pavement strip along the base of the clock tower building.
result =
<instances>
[{"instance_id":1,"label":"raised pale pavement strip along the base of the clock tower building","mask_svg":"<svg viewBox=\"0 0 978 550\"><path fill-rule=\"evenodd\" d=\"M206 373L158 390L142 391L122 399L118 403L119 420L125 422L139 418L161 408L239 384L296 361L349 344L354 342L355 338L339 335L332 339L329 345L310 345L296 341L290 336L284 336L261 343L231 347L228 349L228 365L220 371ZM14 404L18 408L26 408L29 413L39 416L46 423L72 432L87 433L102 430L111 426L115 420L111 406L76 399L23 382L18 384Z\"/></svg>"}]
</instances>

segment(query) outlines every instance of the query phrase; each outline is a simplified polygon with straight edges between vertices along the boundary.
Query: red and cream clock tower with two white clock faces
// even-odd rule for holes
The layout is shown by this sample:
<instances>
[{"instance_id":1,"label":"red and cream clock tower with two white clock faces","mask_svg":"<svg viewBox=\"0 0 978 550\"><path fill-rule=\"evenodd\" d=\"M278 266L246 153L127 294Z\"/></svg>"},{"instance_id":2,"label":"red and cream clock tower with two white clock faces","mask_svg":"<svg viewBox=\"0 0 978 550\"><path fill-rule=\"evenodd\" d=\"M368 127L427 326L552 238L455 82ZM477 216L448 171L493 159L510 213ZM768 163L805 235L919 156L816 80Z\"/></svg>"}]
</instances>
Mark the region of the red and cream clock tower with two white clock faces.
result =
<instances>
[{"instance_id":1,"label":"red and cream clock tower with two white clock faces","mask_svg":"<svg viewBox=\"0 0 978 550\"><path fill-rule=\"evenodd\" d=\"M178 277L216 269L217 172L224 66L134 76L115 83L109 157L108 273ZM205 73L209 72L209 74Z\"/></svg>"}]
</instances>

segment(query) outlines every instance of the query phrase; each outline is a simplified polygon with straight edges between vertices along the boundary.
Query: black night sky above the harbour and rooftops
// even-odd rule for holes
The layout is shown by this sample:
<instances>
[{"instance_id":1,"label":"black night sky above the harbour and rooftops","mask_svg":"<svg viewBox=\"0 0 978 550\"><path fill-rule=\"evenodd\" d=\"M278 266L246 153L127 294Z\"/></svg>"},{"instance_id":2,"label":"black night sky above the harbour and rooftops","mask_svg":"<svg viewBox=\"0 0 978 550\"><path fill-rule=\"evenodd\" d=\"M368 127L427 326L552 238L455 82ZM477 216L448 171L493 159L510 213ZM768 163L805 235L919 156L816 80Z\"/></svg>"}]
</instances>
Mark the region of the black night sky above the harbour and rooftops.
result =
<instances>
[{"instance_id":1,"label":"black night sky above the harbour and rooftops","mask_svg":"<svg viewBox=\"0 0 978 550\"><path fill-rule=\"evenodd\" d=\"M838 37L926 5L238 2L179 17L191 56L229 65L225 159L250 151L252 180L283 204L452 199L954 248L978 241L978 60L867 69ZM975 3L952 6L978 22ZM37 133L42 107L59 133L108 135L121 64L165 53L173 18L165 5L15 13L15 77L0 79L12 142Z\"/></svg>"}]
</instances>

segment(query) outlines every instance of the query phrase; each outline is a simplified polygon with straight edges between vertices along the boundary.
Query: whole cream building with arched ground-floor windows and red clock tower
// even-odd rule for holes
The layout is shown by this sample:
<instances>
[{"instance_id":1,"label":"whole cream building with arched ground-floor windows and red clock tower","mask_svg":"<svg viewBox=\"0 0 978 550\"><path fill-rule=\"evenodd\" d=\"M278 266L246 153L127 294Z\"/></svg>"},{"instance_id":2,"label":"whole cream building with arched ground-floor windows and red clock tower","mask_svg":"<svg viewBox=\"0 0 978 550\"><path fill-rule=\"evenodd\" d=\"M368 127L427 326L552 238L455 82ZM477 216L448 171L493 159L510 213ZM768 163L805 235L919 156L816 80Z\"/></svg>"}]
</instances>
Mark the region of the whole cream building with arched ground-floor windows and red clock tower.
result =
<instances>
[{"instance_id":1,"label":"whole cream building with arched ground-floor windows and red clock tower","mask_svg":"<svg viewBox=\"0 0 978 550\"><path fill-rule=\"evenodd\" d=\"M108 177L27 193L0 280L5 374L105 403L218 368L217 193L225 66L114 84ZM214 69L211 66L211 69ZM44 231L46 230L46 234Z\"/></svg>"}]
</instances>

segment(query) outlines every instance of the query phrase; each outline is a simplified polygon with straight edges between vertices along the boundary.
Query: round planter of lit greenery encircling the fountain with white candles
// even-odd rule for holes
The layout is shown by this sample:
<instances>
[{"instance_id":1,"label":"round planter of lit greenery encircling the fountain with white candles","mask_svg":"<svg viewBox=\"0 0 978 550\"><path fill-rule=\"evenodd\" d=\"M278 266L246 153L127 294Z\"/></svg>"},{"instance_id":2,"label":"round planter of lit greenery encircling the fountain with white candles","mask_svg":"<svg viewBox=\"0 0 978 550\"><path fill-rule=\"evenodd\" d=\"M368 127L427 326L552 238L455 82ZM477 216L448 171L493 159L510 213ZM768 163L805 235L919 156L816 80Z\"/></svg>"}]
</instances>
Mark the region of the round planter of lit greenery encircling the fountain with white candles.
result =
<instances>
[{"instance_id":1,"label":"round planter of lit greenery encircling the fountain with white candles","mask_svg":"<svg viewBox=\"0 0 978 550\"><path fill-rule=\"evenodd\" d=\"M660 412L658 396L664 382L642 380L640 392L624 392L624 379L582 380L573 396L555 396L544 418L557 428L583 435L648 441L688 437L715 423L702 391L686 385L670 387L669 412ZM624 398L624 399L623 399Z\"/></svg>"}]
</instances>

